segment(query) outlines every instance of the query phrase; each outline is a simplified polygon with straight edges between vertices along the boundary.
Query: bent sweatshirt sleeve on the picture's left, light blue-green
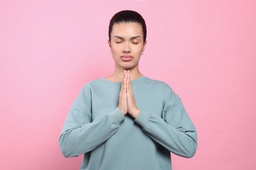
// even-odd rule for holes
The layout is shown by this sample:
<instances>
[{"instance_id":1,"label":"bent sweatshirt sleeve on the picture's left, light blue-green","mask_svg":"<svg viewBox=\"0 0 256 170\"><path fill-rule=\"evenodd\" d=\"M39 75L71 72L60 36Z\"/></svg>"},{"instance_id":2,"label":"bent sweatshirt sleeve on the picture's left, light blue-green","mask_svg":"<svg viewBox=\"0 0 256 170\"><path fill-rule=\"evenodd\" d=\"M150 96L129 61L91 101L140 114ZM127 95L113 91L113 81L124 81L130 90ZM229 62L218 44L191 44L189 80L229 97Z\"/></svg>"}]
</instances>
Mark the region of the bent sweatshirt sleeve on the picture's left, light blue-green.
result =
<instances>
[{"instance_id":1,"label":"bent sweatshirt sleeve on the picture's left, light blue-green","mask_svg":"<svg viewBox=\"0 0 256 170\"><path fill-rule=\"evenodd\" d=\"M92 122L91 95L91 86L87 83L70 107L59 137L60 149L65 157L74 157L93 150L112 137L125 119L117 107Z\"/></svg>"}]
</instances>

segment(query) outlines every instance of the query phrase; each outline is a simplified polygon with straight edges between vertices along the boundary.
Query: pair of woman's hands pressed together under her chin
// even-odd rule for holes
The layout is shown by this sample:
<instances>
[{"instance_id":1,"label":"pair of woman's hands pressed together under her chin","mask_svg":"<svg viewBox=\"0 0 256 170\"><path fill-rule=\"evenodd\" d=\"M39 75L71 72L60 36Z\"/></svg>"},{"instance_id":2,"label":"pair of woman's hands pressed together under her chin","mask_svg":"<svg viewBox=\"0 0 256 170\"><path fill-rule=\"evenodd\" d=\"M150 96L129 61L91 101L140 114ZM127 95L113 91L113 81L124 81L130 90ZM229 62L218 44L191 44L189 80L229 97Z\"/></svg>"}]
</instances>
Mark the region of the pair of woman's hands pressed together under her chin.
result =
<instances>
[{"instance_id":1,"label":"pair of woman's hands pressed together under her chin","mask_svg":"<svg viewBox=\"0 0 256 170\"><path fill-rule=\"evenodd\" d=\"M118 107L125 116L127 112L133 117L137 118L140 110L137 108L135 98L133 95L133 89L131 88L130 71L124 70L124 78L121 84L121 90L119 93Z\"/></svg>"}]
</instances>

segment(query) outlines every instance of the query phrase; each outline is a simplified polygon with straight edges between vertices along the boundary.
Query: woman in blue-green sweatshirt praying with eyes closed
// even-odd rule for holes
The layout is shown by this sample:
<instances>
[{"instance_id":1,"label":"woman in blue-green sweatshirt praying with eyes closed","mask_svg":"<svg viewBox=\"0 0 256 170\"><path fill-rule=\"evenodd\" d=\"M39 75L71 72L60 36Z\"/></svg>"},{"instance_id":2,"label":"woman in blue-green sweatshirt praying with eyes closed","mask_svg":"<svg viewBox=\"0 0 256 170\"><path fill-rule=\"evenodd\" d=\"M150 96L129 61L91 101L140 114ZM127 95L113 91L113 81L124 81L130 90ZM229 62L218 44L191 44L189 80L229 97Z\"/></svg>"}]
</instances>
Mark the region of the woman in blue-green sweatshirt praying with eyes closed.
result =
<instances>
[{"instance_id":1,"label":"woman in blue-green sweatshirt praying with eyes closed","mask_svg":"<svg viewBox=\"0 0 256 170\"><path fill-rule=\"evenodd\" d=\"M114 73L87 82L68 112L59 144L65 157L83 154L81 169L171 169L170 152L191 158L197 133L179 96L139 71L146 24L122 10L110 20Z\"/></svg>"}]
</instances>

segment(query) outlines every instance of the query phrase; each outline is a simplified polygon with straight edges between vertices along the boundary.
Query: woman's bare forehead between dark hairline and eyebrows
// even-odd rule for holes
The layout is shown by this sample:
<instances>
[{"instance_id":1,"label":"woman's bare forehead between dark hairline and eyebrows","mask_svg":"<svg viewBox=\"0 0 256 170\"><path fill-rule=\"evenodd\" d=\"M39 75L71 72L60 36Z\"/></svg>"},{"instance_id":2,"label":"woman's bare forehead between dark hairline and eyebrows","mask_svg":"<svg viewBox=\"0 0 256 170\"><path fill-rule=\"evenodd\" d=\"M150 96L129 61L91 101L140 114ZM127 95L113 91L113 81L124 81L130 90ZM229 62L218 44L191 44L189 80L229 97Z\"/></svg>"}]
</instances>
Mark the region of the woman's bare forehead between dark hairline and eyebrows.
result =
<instances>
[{"instance_id":1,"label":"woman's bare forehead between dark hairline and eyebrows","mask_svg":"<svg viewBox=\"0 0 256 170\"><path fill-rule=\"evenodd\" d=\"M139 23L135 22L128 22L123 23L120 22L118 24L114 24L112 27L112 37L120 36L120 37L135 37L135 36L142 37L143 31L142 26Z\"/></svg>"}]
</instances>

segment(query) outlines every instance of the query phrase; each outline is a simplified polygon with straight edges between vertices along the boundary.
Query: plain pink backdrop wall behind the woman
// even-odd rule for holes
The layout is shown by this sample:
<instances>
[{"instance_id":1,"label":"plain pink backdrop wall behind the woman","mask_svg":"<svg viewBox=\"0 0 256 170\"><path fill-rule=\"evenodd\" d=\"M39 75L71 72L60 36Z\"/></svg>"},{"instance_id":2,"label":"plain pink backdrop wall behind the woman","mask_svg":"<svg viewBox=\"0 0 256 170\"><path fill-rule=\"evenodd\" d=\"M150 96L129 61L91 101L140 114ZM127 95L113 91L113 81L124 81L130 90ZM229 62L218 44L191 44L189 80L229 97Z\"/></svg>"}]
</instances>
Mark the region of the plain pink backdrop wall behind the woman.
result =
<instances>
[{"instance_id":1,"label":"plain pink backdrop wall behind the woman","mask_svg":"<svg viewBox=\"0 0 256 170\"><path fill-rule=\"evenodd\" d=\"M256 165L256 1L0 1L0 169L79 169L60 130L79 90L114 71L108 24L137 10L143 75L179 94L198 130L173 169Z\"/></svg>"}]
</instances>

